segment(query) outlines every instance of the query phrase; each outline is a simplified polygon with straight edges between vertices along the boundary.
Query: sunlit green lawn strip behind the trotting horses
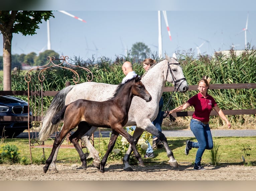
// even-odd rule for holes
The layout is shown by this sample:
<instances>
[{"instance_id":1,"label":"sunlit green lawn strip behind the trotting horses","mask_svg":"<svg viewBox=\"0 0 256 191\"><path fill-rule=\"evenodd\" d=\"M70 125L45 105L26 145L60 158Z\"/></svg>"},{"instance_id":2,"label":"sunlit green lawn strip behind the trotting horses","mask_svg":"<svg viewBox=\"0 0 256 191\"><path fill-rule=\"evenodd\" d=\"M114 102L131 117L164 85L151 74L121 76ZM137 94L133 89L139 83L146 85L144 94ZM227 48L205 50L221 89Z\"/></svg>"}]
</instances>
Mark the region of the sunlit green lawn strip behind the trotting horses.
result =
<instances>
[{"instance_id":1,"label":"sunlit green lawn strip behind the trotting horses","mask_svg":"<svg viewBox=\"0 0 256 191\"><path fill-rule=\"evenodd\" d=\"M102 146L102 139L106 139L109 141L109 138L101 138ZM178 161L178 163L190 163L193 164L195 161L195 156L197 149L191 149L189 151L189 155L184 154L185 149L185 141L188 138L167 138L167 142L174 154L174 157ZM244 145L249 145L251 150L249 152L250 156L246 157L246 163L250 165L256 165L256 141L255 137L213 137L215 144L219 145L219 153L220 153L220 164L228 163L228 164L242 164L242 155L244 152L242 149ZM196 141L195 138L189 138L191 141ZM99 139L95 138L95 148L99 150ZM30 152L29 152L29 145L27 139L20 139L20 138L13 138L13 139L4 139L1 144L14 144L19 148L21 153L21 157L27 159L27 164L30 164ZM52 144L52 140L47 140L45 144ZM152 143L152 140L150 140ZM65 144L65 142L63 143ZM32 149L32 163L33 164L41 164L42 160L42 148L31 148ZM100 149L102 149L100 147ZM87 152L87 149L83 149L84 152ZM45 157L47 158L51 152L51 148L44 148ZM168 161L166 156L166 151L164 148L154 150L155 158L143 158L145 162L149 165L156 165L157 164L165 164ZM210 158L211 152L210 150L206 150L203 157L202 157L202 164L211 164ZM103 156L101 156L102 158ZM61 148L58 152L58 163L67 163L67 164L74 164L74 163L81 163L80 157L76 151L76 149L65 149ZM111 162L108 160L108 162ZM116 163L122 163L120 161L112 161ZM88 160L88 165L92 164L92 160Z\"/></svg>"}]
</instances>

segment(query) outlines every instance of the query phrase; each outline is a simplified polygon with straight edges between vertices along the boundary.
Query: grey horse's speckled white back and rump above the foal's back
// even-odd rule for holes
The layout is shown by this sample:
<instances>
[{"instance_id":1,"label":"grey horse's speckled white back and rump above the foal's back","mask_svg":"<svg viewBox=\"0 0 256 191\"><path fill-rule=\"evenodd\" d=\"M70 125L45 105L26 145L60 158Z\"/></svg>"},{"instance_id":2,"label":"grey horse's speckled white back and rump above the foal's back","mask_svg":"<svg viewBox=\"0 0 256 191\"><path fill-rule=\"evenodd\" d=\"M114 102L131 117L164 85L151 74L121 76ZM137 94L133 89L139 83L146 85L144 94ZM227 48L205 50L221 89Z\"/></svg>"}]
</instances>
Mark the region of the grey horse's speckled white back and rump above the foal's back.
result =
<instances>
[{"instance_id":1,"label":"grey horse's speckled white back and rump above the foal's back","mask_svg":"<svg viewBox=\"0 0 256 191\"><path fill-rule=\"evenodd\" d=\"M93 101L105 101L114 95L117 85L97 82L85 82L77 84L66 96L65 104L77 99L88 99Z\"/></svg>"}]
</instances>

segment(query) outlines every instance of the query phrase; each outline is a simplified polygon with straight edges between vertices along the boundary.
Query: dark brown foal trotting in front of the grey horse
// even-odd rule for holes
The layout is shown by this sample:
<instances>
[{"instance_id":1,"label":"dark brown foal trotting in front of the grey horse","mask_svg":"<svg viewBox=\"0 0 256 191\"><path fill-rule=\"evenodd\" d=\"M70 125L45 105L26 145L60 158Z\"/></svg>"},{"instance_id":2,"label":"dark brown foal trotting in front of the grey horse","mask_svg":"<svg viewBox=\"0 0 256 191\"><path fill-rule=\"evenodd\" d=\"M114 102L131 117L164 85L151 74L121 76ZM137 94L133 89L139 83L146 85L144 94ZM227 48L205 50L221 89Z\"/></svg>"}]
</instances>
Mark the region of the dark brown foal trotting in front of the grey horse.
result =
<instances>
[{"instance_id":1,"label":"dark brown foal trotting in front of the grey horse","mask_svg":"<svg viewBox=\"0 0 256 191\"><path fill-rule=\"evenodd\" d=\"M86 156L78 144L78 140L92 127L111 128L112 134L106 154L101 160L100 172L105 172L105 164L109 153L115 146L116 139L119 134L124 136L132 145L135 157L139 161L140 166L144 166L139 152L136 149L132 136L123 128L128 120L128 111L134 96L139 96L146 102L151 101L152 97L145 89L145 86L140 81L138 75L127 81L125 84L120 84L114 96L106 101L91 101L86 99L78 99L69 105L63 107L51 122L57 124L63 119L63 127L55 137L51 154L46 160L43 167L43 172L46 173L52 161L56 148L62 143L66 135L75 127L78 129L69 137L70 141L77 149L82 161L83 169L86 169Z\"/></svg>"}]
</instances>

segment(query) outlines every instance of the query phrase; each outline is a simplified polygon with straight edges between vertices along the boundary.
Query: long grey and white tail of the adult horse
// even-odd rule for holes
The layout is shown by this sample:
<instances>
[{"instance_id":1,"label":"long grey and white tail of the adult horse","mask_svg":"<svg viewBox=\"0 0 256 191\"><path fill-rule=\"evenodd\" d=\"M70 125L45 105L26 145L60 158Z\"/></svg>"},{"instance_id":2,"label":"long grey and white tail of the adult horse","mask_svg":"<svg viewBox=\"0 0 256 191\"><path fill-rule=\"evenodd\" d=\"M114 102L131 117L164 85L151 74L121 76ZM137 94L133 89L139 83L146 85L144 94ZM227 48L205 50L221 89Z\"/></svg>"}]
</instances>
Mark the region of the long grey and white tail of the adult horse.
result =
<instances>
[{"instance_id":1,"label":"long grey and white tail of the adult horse","mask_svg":"<svg viewBox=\"0 0 256 191\"><path fill-rule=\"evenodd\" d=\"M45 141L50 134L52 134L58 127L58 124L52 124L52 117L58 113L62 107L65 106L65 99L68 93L72 90L73 86L68 86L59 91L53 98L49 108L42 119L42 128L39 132L39 139Z\"/></svg>"}]
</instances>

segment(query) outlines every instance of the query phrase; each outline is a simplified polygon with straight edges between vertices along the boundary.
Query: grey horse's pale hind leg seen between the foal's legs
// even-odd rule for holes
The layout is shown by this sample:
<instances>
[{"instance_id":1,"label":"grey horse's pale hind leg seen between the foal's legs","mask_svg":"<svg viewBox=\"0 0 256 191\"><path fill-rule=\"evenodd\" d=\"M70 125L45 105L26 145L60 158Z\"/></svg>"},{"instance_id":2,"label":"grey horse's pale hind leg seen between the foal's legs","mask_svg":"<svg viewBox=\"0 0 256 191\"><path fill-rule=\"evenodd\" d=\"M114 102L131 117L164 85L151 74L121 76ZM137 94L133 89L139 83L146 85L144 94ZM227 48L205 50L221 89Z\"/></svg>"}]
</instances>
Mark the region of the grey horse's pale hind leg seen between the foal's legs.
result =
<instances>
[{"instance_id":1,"label":"grey horse's pale hind leg seen between the foal's legs","mask_svg":"<svg viewBox=\"0 0 256 191\"><path fill-rule=\"evenodd\" d=\"M93 158L93 165L100 169L99 151L97 151L90 142L90 137L97 129L98 127L92 126L91 129L89 129L81 139L84 142L86 148L89 150L89 156L87 156L87 158Z\"/></svg>"}]
</instances>

